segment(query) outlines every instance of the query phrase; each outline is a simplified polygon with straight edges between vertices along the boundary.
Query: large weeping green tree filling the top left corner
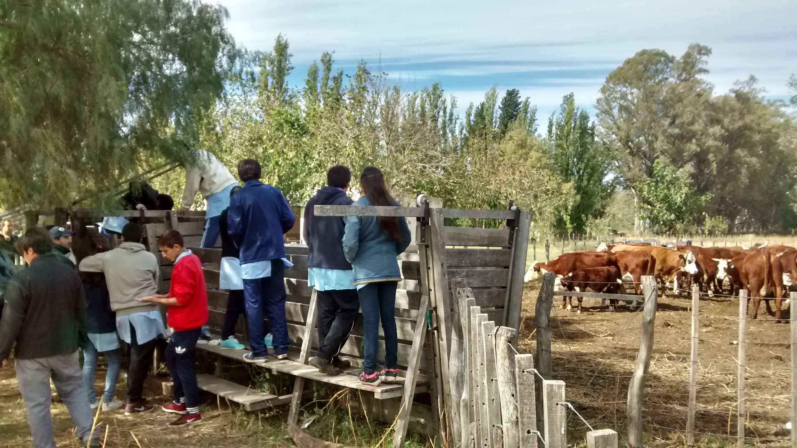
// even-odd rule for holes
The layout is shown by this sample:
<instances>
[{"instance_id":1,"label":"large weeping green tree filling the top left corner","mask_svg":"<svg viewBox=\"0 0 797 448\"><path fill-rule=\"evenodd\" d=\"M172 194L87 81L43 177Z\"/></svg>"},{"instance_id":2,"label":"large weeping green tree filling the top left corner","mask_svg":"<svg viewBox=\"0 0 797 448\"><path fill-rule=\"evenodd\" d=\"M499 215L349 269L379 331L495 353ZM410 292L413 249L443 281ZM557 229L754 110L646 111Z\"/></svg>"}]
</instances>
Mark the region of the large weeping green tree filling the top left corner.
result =
<instances>
[{"instance_id":1,"label":"large weeping green tree filling the top left corner","mask_svg":"<svg viewBox=\"0 0 797 448\"><path fill-rule=\"evenodd\" d=\"M0 3L0 207L184 159L238 56L226 19L198 0Z\"/></svg>"}]
</instances>

